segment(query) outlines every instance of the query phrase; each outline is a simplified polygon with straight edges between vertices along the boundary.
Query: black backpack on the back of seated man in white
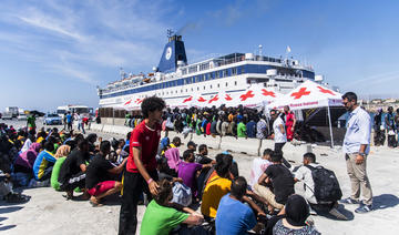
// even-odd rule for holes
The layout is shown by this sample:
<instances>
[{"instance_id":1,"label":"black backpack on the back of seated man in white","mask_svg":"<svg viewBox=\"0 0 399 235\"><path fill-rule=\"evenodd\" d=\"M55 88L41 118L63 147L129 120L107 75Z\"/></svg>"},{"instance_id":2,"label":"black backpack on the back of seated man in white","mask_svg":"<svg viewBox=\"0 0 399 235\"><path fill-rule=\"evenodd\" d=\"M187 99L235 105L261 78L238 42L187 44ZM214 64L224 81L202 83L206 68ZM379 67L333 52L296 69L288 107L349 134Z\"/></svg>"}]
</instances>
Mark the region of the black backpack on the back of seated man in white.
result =
<instances>
[{"instance_id":1,"label":"black backpack on the back of seated man in white","mask_svg":"<svg viewBox=\"0 0 399 235\"><path fill-rule=\"evenodd\" d=\"M315 197L317 203L337 202L342 197L342 192L335 173L323 166L306 165L311 171L311 177L315 182Z\"/></svg>"}]
</instances>

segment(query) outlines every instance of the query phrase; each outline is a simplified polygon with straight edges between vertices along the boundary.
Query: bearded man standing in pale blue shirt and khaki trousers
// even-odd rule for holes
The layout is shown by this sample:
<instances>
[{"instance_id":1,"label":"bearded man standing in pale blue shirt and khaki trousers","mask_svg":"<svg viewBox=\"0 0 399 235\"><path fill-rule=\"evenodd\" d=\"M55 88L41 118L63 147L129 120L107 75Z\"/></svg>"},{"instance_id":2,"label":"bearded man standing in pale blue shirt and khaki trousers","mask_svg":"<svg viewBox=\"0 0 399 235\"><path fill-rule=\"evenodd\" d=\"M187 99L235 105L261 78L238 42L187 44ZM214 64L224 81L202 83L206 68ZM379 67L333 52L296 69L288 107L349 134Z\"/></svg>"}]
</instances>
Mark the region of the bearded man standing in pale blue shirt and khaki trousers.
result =
<instances>
[{"instance_id":1,"label":"bearded man standing in pale blue shirt and khaki trousers","mask_svg":"<svg viewBox=\"0 0 399 235\"><path fill-rule=\"evenodd\" d=\"M351 184L351 195L340 202L359 204L361 190L364 203L355 212L367 213L372 210L372 191L366 171L367 155L370 151L371 117L358 105L357 95L354 92L345 93L342 103L349 112L342 150Z\"/></svg>"}]
</instances>

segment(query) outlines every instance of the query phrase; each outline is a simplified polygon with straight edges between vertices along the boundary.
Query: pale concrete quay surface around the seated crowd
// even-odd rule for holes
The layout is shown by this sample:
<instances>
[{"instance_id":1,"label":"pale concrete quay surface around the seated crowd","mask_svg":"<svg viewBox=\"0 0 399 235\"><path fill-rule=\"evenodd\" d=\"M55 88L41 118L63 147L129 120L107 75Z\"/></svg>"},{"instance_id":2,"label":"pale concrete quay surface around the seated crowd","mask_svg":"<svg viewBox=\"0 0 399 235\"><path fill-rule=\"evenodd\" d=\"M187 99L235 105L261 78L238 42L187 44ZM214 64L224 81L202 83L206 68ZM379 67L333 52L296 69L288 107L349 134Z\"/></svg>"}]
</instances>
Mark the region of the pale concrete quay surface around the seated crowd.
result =
<instances>
[{"instance_id":1,"label":"pale concrete quay surface around the seated crowd","mask_svg":"<svg viewBox=\"0 0 399 235\"><path fill-rule=\"evenodd\" d=\"M3 121L0 121L3 122ZM21 126L24 122L6 122L14 126ZM122 135L96 132L99 136L108 140L112 136L116 139ZM174 134L170 133L170 137ZM182 139L187 143L187 139ZM217 147L218 139L197 137L193 140L197 143L206 143ZM239 173L249 178L252 160L256 157L257 142L246 142L244 140L226 139L222 144L222 150L233 149L234 160L238 163ZM232 147L233 146L233 147ZM272 141L266 141L264 147L273 147ZM285 157L294 161L294 165L299 165L301 155L306 152L306 145L284 146ZM184 151L185 147L181 147ZM214 156L222 150L211 150L209 155ZM245 150L247 154L239 153ZM344 196L350 193L349 177L346 173L344 154L339 147L330 149L326 146L313 146L317 155L317 162L335 171ZM397 222L399 221L399 150L382 147L371 147L368 156L368 174L374 191L374 202L376 210L368 214L356 214L356 205L345 205L346 214L351 215L351 221L341 222L324 216L313 216L315 225L323 234L399 234ZM296 192L300 192L303 185L296 185ZM29 188L23 191L31 197L30 202L20 205L0 203L0 232L1 234L116 234L119 225L120 206L115 200L105 202L103 207L92 207L89 202L65 201L61 192L55 192L50 187ZM139 221L141 221L144 206L139 206ZM140 223L140 222L139 222Z\"/></svg>"}]
</instances>

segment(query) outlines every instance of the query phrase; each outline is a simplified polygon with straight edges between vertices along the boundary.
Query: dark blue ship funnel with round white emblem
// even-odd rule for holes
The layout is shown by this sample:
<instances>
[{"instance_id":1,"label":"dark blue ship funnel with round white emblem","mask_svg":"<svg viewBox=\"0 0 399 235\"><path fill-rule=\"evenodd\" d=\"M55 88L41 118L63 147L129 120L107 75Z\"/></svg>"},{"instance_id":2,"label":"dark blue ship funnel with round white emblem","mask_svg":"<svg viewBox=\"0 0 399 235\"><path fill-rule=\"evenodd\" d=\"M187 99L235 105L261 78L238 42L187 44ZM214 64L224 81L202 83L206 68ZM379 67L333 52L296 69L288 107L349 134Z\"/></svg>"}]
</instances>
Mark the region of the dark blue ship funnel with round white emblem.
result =
<instances>
[{"instance_id":1,"label":"dark blue ship funnel with round white emblem","mask_svg":"<svg viewBox=\"0 0 399 235\"><path fill-rule=\"evenodd\" d=\"M165 44L157 67L158 72L163 73L175 72L177 69L177 61L182 61L184 64L187 64L187 57L182 35L177 35L171 30L167 31L167 34L168 42ZM178 65L182 65L182 62L178 62Z\"/></svg>"}]
</instances>

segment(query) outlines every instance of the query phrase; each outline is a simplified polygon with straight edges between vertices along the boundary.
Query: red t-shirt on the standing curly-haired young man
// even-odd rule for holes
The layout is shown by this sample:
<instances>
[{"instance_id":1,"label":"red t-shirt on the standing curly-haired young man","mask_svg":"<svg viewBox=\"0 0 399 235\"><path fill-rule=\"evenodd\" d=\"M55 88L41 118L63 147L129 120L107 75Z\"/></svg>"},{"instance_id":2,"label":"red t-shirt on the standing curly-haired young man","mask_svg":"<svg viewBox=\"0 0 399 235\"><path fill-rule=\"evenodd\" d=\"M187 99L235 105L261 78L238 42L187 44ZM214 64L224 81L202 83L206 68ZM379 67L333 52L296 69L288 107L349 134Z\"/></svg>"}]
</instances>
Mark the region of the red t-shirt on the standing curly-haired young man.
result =
<instances>
[{"instance_id":1,"label":"red t-shirt on the standing curly-haired young man","mask_svg":"<svg viewBox=\"0 0 399 235\"><path fill-rule=\"evenodd\" d=\"M161 139L161 124L156 123L155 129L150 129L142 121L133 131L130 140L130 154L126 163L126 171L137 173L137 166L133 159L133 147L141 146L141 161L147 171L156 170L156 152Z\"/></svg>"}]
</instances>

